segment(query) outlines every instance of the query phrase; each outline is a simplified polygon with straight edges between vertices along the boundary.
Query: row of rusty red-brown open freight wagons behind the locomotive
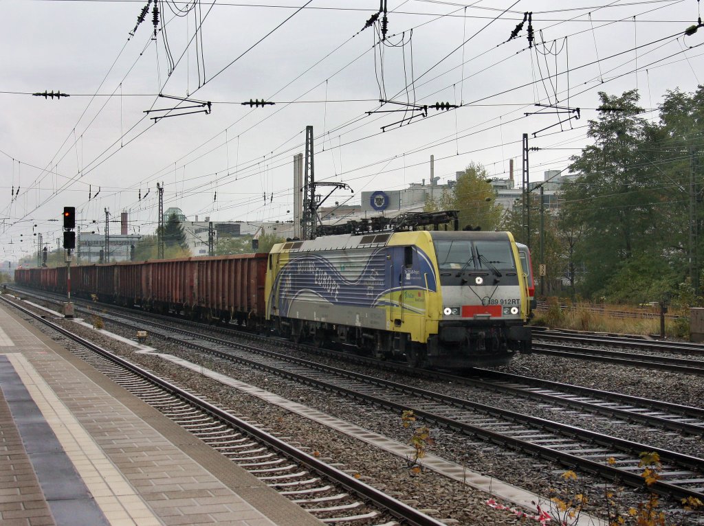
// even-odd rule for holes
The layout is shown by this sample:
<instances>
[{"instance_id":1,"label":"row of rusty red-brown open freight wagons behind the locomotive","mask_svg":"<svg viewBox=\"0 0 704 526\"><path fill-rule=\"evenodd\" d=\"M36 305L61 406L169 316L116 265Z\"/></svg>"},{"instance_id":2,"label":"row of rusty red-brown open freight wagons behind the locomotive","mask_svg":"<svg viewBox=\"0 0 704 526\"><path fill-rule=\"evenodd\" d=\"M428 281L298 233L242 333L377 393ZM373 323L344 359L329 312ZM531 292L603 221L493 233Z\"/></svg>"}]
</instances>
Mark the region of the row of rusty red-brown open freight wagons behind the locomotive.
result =
<instances>
[{"instance_id":1,"label":"row of rusty red-brown open freight wagons behind the locomotive","mask_svg":"<svg viewBox=\"0 0 704 526\"><path fill-rule=\"evenodd\" d=\"M126 307L183 313L192 319L264 319L267 254L189 257L71 267L71 294ZM66 292L66 269L18 269L20 285Z\"/></svg>"}]
</instances>

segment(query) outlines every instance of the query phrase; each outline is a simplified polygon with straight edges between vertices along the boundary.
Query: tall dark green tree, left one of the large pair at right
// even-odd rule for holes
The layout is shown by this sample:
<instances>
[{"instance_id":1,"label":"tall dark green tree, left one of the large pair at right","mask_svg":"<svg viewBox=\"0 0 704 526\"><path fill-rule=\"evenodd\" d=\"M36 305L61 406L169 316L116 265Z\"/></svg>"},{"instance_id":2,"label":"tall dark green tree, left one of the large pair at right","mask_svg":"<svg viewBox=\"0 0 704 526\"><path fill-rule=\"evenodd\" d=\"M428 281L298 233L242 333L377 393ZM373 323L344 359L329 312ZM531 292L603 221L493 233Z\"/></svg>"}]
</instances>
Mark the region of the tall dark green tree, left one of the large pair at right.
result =
<instances>
[{"instance_id":1,"label":"tall dark green tree, left one of the large pair at right","mask_svg":"<svg viewBox=\"0 0 704 526\"><path fill-rule=\"evenodd\" d=\"M628 274L632 268L627 262L636 256L655 261L663 255L670 236L664 213L668 198L662 169L650 151L655 130L639 116L637 92L599 96L601 107L608 110L589 121L587 134L594 143L572 158L570 170L580 177L565 188L562 207L570 228L582 231L574 257L586 269L584 292L619 300L620 292L609 283L627 283L617 279L620 271ZM658 267L650 266L651 276Z\"/></svg>"}]
</instances>

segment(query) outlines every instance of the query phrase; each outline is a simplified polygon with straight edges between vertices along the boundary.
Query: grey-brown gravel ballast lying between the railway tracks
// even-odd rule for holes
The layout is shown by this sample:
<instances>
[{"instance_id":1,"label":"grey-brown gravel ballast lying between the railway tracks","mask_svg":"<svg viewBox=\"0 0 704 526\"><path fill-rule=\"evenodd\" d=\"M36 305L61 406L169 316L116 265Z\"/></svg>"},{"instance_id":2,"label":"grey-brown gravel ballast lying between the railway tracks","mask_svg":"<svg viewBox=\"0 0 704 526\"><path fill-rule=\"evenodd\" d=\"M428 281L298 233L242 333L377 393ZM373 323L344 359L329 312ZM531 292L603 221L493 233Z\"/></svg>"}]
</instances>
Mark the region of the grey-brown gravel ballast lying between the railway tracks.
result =
<instances>
[{"instance_id":1,"label":"grey-brown gravel ballast lying between the railway tracks","mask_svg":"<svg viewBox=\"0 0 704 526\"><path fill-rule=\"evenodd\" d=\"M76 327L75 324L71 326L72 328ZM122 328L110 326L108 326L108 330L115 333L124 332ZM447 480L445 477L436 475L430 470L423 470L422 473L413 475L408 470L406 459L379 451L351 437L341 435L339 432L329 430L322 425L292 415L283 409L270 406L260 399L233 391L212 380L194 376L190 371L184 371L172 364L165 364L155 357L134 354L131 349L126 349L124 345L118 344L115 340L102 335L96 335L94 331L89 329L77 328L75 332L84 337L92 334L93 340L97 336L99 345L120 352L120 354L125 354L130 359L138 361L178 383L189 385L192 389L206 394L210 399L214 399L218 404L235 408L233 412L240 416L263 423L268 428L291 437L291 440L301 442L305 447L310 448L311 451L320 452L323 457L330 457L335 462L344 463L345 469L354 470L356 473L363 475L363 477L368 477L365 478L367 482L383 487L385 492L396 494L399 499L409 501L417 508L437 510L437 513L431 512L437 518L451 518L460 524L466 525L524 523L506 511L495 511L486 506L487 494L467 488L458 482ZM132 336L132 334L129 336ZM161 352L172 352L172 354L177 354L180 357L192 359L189 352L185 352L180 346L156 342L156 340L152 340L149 343L150 345L158 346ZM206 358L203 365L216 371L227 373L233 378L246 383L276 392L288 399L315 407L315 409L325 411L337 418L356 423L363 428L393 437L401 442L408 442L410 439L410 431L403 429L401 416L398 414L390 413L377 407L360 406L334 394L315 392L308 387L292 385L292 383L285 380L269 377L266 373L246 371L241 366L232 366L222 361L213 361ZM608 389L635 396L657 398L695 406L700 405L700 393L704 392L704 379L699 377L677 373L654 373L653 371L637 368L616 368L605 364L543 357L540 355L519 356L510 365L496 369L535 378L576 383L597 389ZM365 373L369 373L369 371L365 371ZM403 380L407 383L409 381L408 378ZM425 380L412 381L414 385L416 383L419 385L425 384ZM435 390L438 388L437 384L432 382L428 382L428 385L424 385L424 387L434 388ZM457 386L446 386L446 391L448 394L457 394L458 396L463 396L461 393L466 394L466 390ZM477 399L477 402L479 401ZM522 407L523 410L526 409L524 402L517 402L517 406ZM563 418L569 420L570 414L567 411L565 413L560 411L560 418L557 418L555 413L551 412L546 418L563 421ZM572 423L584 427L585 419L582 416L571 413L571 418L574 419ZM596 429L605 432L603 425L607 424L597 418L591 418L589 419L589 425L594 425ZM615 428L612 430L612 434L616 434L625 426L615 425L612 427ZM653 445L669 444L670 449L679 451L679 446L672 446L672 436L668 435L661 430L650 430L648 435L639 437L639 440L652 443ZM472 437L458 436L443 429L433 428L432 437L434 438L434 445L429 447L429 452L463 464L468 469L484 475L497 477L505 482L542 495L550 494L551 489L557 492L566 490L570 494L579 492L579 489L568 487L567 482L560 478L560 473L565 470L561 466L522 454L507 452L500 447L483 444L472 439ZM702 451L700 437L691 441L684 441L684 445L690 446L693 451ZM661 447L668 446L662 445ZM700 453L698 456L701 456ZM582 483L591 484L593 482L595 481L589 475L580 475L577 485ZM590 502L593 504L588 506L588 511L598 513L598 510L603 510L602 497L602 494L589 495ZM643 498L643 494L634 494L634 492L626 490L620 501L633 504ZM669 523L680 524L681 522L680 520L674 520L674 522Z\"/></svg>"}]
</instances>

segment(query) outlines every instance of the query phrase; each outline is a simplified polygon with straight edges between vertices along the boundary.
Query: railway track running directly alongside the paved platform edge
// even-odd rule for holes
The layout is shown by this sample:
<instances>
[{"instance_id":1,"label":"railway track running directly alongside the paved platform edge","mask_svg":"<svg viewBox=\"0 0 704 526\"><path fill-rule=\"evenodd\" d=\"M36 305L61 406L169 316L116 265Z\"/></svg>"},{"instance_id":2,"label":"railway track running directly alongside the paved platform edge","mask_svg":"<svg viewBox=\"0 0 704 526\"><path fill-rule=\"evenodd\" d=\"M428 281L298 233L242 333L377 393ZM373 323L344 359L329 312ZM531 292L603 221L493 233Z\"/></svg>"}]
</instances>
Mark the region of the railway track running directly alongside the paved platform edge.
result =
<instances>
[{"instance_id":1,"label":"railway track running directly alongside the paved platform edge","mask_svg":"<svg viewBox=\"0 0 704 526\"><path fill-rule=\"evenodd\" d=\"M199 394L122 359L5 297L0 298L79 344L81 348L74 352L97 370L322 522L391 526L400 520L417 526L444 524L307 454L262 426L237 418Z\"/></svg>"}]
</instances>

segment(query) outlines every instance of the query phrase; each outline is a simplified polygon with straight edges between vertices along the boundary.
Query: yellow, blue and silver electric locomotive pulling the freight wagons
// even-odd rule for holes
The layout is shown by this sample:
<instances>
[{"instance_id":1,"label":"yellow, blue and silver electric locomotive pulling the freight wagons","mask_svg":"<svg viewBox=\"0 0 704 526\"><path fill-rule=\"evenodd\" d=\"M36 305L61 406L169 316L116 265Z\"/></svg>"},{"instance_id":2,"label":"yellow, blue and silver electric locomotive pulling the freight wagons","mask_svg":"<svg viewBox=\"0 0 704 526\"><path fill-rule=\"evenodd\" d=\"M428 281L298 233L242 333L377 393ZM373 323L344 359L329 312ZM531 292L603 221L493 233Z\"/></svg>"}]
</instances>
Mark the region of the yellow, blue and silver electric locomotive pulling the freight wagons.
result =
<instances>
[{"instance_id":1,"label":"yellow, blue and silver electric locomotive pulling the freight wagons","mask_svg":"<svg viewBox=\"0 0 704 526\"><path fill-rule=\"evenodd\" d=\"M510 232L393 231L275 245L266 318L413 366L505 364L529 352L526 274Z\"/></svg>"}]
</instances>

